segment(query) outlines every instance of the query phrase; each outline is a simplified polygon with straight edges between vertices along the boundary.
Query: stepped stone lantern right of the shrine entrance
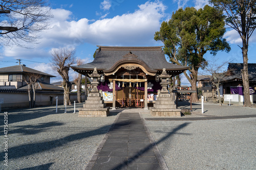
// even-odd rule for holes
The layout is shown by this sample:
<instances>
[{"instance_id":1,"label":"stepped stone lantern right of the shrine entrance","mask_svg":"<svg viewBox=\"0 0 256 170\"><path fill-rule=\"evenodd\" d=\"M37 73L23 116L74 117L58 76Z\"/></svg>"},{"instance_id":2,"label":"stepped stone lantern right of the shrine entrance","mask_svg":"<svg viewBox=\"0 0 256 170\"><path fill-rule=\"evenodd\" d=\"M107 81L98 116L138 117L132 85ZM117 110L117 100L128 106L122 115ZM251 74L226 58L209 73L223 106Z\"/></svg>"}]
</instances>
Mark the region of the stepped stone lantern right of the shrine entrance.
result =
<instances>
[{"instance_id":1,"label":"stepped stone lantern right of the shrine entrance","mask_svg":"<svg viewBox=\"0 0 256 170\"><path fill-rule=\"evenodd\" d=\"M170 78L165 69L160 75L162 89L153 108L150 108L152 116L181 116L181 109L176 109L172 96L167 90L167 79Z\"/></svg>"}]
</instances>

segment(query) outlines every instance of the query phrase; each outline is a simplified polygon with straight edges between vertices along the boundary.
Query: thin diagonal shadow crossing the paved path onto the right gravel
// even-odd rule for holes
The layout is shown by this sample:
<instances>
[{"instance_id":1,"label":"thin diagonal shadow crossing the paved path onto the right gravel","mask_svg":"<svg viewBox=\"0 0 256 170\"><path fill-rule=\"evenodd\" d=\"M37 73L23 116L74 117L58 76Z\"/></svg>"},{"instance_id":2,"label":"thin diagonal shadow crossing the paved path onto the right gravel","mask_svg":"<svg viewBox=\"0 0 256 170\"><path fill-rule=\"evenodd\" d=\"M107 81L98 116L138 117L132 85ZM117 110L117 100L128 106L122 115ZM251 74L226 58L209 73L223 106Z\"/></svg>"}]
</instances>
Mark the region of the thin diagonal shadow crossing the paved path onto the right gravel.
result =
<instances>
[{"instance_id":1,"label":"thin diagonal shadow crossing the paved path onto the right gravel","mask_svg":"<svg viewBox=\"0 0 256 170\"><path fill-rule=\"evenodd\" d=\"M170 131L167 135L165 135L164 137L162 137L161 139L159 139L158 141L156 141L156 145L160 144L161 142L163 142L164 140L168 139L170 136L176 134L179 130L185 128L186 126L188 126L190 123L184 123L184 124L181 124L179 125L177 128L175 128L173 131ZM183 135L189 135L189 134L183 134ZM139 157L141 155L143 155L144 153L150 151L153 149L153 145L152 144L149 144L147 145L146 147L144 147L143 149L141 149L140 151L138 151L135 155L131 156L131 157L128 157L127 161L124 161L122 162L121 164L117 165L116 167L112 168L112 170L114 169L122 169L126 166L132 166L133 163L139 159ZM154 169L154 164L152 164L152 167L148 169Z\"/></svg>"}]
</instances>

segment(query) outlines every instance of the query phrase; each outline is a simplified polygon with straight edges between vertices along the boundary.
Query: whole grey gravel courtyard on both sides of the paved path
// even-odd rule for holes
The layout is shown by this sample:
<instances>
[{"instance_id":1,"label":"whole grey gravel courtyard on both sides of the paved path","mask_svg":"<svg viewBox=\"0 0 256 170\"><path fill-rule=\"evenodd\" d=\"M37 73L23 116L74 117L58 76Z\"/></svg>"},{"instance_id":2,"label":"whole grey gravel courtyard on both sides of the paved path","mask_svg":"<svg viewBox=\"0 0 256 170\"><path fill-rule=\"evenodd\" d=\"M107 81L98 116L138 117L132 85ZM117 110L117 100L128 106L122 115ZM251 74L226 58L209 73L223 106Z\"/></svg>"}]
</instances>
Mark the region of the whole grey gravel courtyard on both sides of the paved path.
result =
<instances>
[{"instance_id":1,"label":"whole grey gravel courtyard on both sides of the paved path","mask_svg":"<svg viewBox=\"0 0 256 170\"><path fill-rule=\"evenodd\" d=\"M179 108L190 108L182 106ZM77 106L82 107L82 106ZM4 114L1 122L0 169L84 169L114 122L108 117L78 117L69 106L8 111L8 167L4 165ZM256 114L256 108L193 104L183 117ZM129 111L129 109L127 109ZM130 110L135 111L135 110ZM118 112L118 110L117 110ZM152 117L138 109L144 118ZM169 169L255 169L256 118L149 121L146 120Z\"/></svg>"}]
</instances>

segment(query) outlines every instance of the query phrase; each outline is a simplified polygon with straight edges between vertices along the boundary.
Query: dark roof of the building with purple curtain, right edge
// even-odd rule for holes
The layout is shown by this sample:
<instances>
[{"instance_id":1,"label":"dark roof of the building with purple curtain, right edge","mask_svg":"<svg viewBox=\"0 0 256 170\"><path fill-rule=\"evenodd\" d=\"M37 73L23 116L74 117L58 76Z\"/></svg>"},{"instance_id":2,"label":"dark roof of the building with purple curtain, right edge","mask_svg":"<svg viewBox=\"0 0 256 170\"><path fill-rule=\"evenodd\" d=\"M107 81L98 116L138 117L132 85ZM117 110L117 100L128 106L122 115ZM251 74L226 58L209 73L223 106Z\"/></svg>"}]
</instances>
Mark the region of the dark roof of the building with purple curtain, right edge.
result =
<instances>
[{"instance_id":1,"label":"dark roof of the building with purple curtain, right edge","mask_svg":"<svg viewBox=\"0 0 256 170\"><path fill-rule=\"evenodd\" d=\"M231 80L242 80L243 63L228 63L227 74L222 82ZM256 63L248 63L249 82L256 81Z\"/></svg>"}]
</instances>

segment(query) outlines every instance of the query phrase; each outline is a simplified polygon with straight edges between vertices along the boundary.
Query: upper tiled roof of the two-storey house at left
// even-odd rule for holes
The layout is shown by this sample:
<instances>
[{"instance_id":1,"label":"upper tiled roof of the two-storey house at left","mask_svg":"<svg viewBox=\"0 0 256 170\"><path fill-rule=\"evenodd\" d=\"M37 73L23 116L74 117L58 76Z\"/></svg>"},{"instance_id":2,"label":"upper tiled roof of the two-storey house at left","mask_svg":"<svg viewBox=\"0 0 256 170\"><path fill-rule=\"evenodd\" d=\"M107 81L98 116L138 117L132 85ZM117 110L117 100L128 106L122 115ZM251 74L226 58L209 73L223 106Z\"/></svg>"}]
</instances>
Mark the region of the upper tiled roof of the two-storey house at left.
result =
<instances>
[{"instance_id":1,"label":"upper tiled roof of the two-storey house at left","mask_svg":"<svg viewBox=\"0 0 256 170\"><path fill-rule=\"evenodd\" d=\"M1 73L5 73L5 74L15 74L15 73L34 73L34 74L39 74L39 75L45 75L45 76L49 76L49 77L56 77L56 76L52 76L49 75L45 72L41 72L29 67L26 67L24 65L14 65L14 66L10 66L10 67L3 67L0 68L0 74Z\"/></svg>"}]
</instances>

